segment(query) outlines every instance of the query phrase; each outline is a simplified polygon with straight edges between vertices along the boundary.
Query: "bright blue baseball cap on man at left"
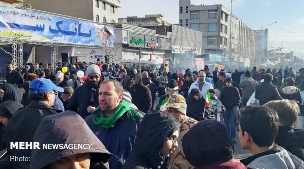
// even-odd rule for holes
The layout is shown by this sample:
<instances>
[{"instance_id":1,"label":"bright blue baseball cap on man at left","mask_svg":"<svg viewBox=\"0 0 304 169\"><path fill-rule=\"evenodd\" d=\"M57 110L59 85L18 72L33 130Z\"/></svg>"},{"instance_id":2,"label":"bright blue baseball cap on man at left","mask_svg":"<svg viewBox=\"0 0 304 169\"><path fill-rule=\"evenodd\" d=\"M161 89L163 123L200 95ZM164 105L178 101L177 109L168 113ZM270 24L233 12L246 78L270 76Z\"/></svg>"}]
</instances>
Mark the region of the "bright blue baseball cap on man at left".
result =
<instances>
[{"instance_id":1,"label":"bright blue baseball cap on man at left","mask_svg":"<svg viewBox=\"0 0 304 169\"><path fill-rule=\"evenodd\" d=\"M57 87L50 79L46 78L37 78L29 85L29 91L31 94L45 93L52 90L64 92L63 88Z\"/></svg>"}]
</instances>

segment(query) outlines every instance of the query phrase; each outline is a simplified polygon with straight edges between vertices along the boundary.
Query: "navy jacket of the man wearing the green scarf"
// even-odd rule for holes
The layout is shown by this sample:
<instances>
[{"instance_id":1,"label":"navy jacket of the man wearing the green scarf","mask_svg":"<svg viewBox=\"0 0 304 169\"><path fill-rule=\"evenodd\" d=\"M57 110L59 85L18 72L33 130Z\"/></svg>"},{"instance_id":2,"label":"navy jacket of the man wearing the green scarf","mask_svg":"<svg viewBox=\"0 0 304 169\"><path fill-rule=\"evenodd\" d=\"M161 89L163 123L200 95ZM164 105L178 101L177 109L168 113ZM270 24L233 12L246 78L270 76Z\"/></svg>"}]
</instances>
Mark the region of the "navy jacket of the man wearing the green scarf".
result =
<instances>
[{"instance_id":1,"label":"navy jacket of the man wearing the green scarf","mask_svg":"<svg viewBox=\"0 0 304 169\"><path fill-rule=\"evenodd\" d=\"M109 159L110 169L121 169L134 148L140 120L130 121L125 113L113 127L107 129L102 128L101 125L96 125L93 121L93 115L84 120L105 148L114 154Z\"/></svg>"}]
</instances>

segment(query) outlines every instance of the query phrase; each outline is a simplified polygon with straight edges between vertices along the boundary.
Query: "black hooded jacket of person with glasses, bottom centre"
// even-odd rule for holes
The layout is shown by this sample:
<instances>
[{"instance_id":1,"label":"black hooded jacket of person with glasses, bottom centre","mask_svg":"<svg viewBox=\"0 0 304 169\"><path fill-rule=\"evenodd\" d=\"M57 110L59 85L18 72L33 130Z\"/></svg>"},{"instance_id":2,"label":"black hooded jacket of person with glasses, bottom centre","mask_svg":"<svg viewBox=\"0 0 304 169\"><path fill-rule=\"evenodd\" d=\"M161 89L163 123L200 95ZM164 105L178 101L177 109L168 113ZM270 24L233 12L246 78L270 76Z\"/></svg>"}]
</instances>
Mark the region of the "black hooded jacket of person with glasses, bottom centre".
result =
<instances>
[{"instance_id":1,"label":"black hooded jacket of person with glasses, bottom centre","mask_svg":"<svg viewBox=\"0 0 304 169\"><path fill-rule=\"evenodd\" d=\"M123 169L167 169L166 157L160 151L180 123L171 115L162 111L151 111L143 118L138 129L135 147Z\"/></svg>"}]
</instances>

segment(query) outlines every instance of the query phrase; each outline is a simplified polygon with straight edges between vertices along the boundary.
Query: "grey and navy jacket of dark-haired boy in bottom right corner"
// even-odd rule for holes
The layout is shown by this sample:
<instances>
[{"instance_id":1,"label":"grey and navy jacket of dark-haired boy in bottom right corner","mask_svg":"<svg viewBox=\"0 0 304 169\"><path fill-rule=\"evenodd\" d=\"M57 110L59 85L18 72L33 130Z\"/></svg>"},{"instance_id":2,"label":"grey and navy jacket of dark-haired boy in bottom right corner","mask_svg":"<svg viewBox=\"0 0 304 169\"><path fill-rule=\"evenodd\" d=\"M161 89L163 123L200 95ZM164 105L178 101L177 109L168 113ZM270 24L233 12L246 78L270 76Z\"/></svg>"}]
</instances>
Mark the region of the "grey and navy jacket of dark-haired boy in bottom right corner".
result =
<instances>
[{"instance_id":1,"label":"grey and navy jacket of dark-haired boy in bottom right corner","mask_svg":"<svg viewBox=\"0 0 304 169\"><path fill-rule=\"evenodd\" d=\"M241 162L248 169L303 169L304 163L297 156L292 155L284 148L277 147L262 153L253 155Z\"/></svg>"}]
</instances>

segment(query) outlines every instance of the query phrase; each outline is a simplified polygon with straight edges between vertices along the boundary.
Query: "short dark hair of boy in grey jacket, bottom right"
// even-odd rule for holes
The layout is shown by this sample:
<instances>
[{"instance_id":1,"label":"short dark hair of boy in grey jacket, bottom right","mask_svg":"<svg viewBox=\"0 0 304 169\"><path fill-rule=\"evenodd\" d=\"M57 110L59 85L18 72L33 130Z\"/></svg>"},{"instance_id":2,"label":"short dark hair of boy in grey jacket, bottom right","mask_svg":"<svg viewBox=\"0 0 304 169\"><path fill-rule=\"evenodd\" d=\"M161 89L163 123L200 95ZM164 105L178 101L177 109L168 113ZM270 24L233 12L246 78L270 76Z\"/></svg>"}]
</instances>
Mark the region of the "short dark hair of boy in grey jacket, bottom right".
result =
<instances>
[{"instance_id":1,"label":"short dark hair of boy in grey jacket, bottom right","mask_svg":"<svg viewBox=\"0 0 304 169\"><path fill-rule=\"evenodd\" d=\"M271 146L278 134L278 113L266 106L248 106L241 112L240 127L242 134L250 134L259 146Z\"/></svg>"}]
</instances>

